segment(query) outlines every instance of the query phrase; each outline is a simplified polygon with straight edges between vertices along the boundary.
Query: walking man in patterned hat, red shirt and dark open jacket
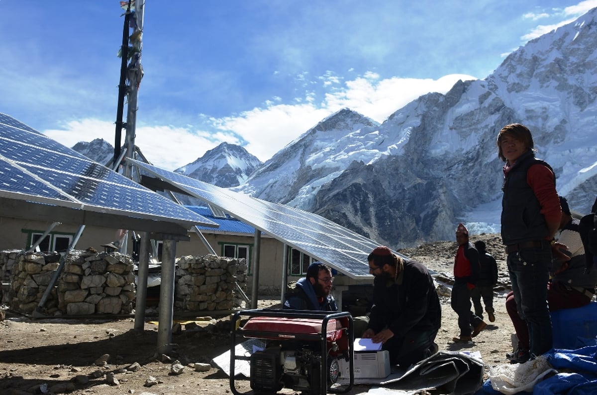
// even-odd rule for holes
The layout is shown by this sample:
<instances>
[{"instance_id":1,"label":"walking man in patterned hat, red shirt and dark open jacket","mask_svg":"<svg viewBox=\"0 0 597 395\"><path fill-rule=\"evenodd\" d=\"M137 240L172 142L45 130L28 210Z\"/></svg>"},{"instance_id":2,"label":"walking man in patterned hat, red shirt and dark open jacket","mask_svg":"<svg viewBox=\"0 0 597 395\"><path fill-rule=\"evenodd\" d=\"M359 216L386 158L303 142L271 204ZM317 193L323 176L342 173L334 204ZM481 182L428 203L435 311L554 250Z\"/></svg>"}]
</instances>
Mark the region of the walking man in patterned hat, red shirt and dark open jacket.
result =
<instances>
[{"instance_id":1,"label":"walking man in patterned hat, red shirt and dark open jacket","mask_svg":"<svg viewBox=\"0 0 597 395\"><path fill-rule=\"evenodd\" d=\"M454 285L450 304L458 314L460 335L454 337L455 342L471 341L479 334L487 323L470 310L470 290L475 288L479 278L479 253L469 242L469 230L463 223L456 228L458 251L454 258Z\"/></svg>"}]
</instances>

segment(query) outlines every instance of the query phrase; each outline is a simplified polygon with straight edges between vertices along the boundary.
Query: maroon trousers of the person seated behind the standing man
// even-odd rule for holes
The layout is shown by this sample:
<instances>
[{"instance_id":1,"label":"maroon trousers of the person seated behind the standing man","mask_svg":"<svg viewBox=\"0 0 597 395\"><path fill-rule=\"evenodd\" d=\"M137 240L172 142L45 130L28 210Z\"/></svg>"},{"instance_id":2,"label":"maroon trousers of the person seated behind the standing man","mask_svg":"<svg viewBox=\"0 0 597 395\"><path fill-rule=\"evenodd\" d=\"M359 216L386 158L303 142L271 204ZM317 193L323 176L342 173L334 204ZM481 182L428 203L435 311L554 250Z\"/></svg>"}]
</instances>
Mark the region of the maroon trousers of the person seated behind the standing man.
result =
<instances>
[{"instance_id":1,"label":"maroon trousers of the person seated behind the standing man","mask_svg":"<svg viewBox=\"0 0 597 395\"><path fill-rule=\"evenodd\" d=\"M589 304L590 298L576 289L568 289L560 282L547 283L547 303L549 311L562 310L562 308L577 308ZM522 350L529 349L527 322L518 315L514 293L506 297L506 310L518 337L518 347Z\"/></svg>"}]
</instances>

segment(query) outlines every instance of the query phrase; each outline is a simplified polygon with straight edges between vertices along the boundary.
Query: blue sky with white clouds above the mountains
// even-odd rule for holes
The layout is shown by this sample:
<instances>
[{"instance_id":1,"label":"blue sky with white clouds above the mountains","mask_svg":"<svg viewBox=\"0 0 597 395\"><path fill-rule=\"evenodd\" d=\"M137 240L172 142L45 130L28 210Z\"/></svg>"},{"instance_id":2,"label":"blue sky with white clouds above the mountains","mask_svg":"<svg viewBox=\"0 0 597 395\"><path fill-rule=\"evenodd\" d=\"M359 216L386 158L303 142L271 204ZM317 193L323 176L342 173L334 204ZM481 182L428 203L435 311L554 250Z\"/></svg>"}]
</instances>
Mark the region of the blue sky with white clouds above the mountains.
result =
<instances>
[{"instance_id":1,"label":"blue sky with white clouds above the mountains","mask_svg":"<svg viewBox=\"0 0 597 395\"><path fill-rule=\"evenodd\" d=\"M136 143L169 170L223 141L266 161L343 107L383 122L421 94L485 78L593 7L146 0ZM123 21L118 1L0 0L0 112L69 147L114 144Z\"/></svg>"}]
</instances>

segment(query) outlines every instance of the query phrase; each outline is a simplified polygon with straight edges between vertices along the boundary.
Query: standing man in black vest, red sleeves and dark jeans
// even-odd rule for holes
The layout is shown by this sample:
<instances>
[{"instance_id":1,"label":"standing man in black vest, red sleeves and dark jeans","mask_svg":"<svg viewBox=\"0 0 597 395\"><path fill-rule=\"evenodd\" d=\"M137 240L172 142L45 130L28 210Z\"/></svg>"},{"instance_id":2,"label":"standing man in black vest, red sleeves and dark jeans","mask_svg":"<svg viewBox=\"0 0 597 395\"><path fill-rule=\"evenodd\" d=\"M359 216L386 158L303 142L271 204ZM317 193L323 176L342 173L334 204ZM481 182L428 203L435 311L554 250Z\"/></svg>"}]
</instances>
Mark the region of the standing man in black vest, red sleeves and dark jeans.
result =
<instances>
[{"instance_id":1,"label":"standing man in black vest, red sleeves and dark jeans","mask_svg":"<svg viewBox=\"0 0 597 395\"><path fill-rule=\"evenodd\" d=\"M535 158L527 126L504 126L497 136L504 165L501 239L519 316L527 323L530 358L552 348L552 322L547 309L547 281L552 244L562 210L556 177L547 162Z\"/></svg>"}]
</instances>

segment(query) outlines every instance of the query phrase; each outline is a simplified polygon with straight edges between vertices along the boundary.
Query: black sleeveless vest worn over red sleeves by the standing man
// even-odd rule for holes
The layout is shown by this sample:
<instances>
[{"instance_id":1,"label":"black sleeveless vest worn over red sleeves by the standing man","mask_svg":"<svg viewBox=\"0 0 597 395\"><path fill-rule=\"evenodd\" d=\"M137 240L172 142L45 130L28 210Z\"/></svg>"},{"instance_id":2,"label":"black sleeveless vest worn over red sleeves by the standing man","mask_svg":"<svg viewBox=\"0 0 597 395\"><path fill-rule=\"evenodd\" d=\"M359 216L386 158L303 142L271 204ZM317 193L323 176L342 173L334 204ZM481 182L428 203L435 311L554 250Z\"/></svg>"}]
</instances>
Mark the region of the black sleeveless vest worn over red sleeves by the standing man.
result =
<instances>
[{"instance_id":1,"label":"black sleeveless vest worn over red sleeves by the standing man","mask_svg":"<svg viewBox=\"0 0 597 395\"><path fill-rule=\"evenodd\" d=\"M527 183L528 169L540 163L553 169L547 162L536 159L533 151L522 154L504 176L501 199L501 240L505 245L543 240L549 236L545 217L533 189ZM554 175L555 187L555 175Z\"/></svg>"}]
</instances>

